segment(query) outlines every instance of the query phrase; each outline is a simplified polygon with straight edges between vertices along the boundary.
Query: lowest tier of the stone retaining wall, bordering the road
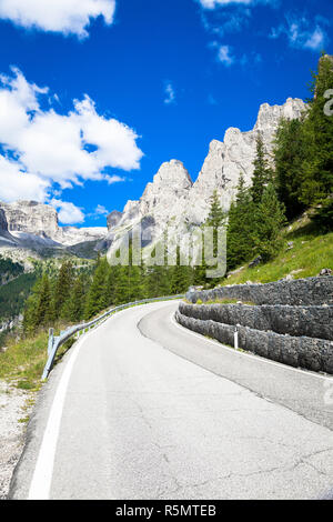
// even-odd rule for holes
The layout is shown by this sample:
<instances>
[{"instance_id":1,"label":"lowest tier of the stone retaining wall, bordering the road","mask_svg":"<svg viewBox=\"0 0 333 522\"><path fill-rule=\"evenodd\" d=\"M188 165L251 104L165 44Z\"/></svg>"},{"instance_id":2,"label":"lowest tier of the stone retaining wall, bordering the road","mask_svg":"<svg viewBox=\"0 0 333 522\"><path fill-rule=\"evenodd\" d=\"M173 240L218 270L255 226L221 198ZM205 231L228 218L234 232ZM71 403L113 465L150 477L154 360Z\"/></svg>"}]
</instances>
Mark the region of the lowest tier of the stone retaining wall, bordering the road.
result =
<instances>
[{"instance_id":1,"label":"lowest tier of the stone retaining wall, bordering the road","mask_svg":"<svg viewBox=\"0 0 333 522\"><path fill-rule=\"evenodd\" d=\"M183 315L179 311L176 321L183 327L233 345L234 327L212 320L200 320ZM281 335L274 332L238 327L239 347L273 361L333 374L333 342L307 337Z\"/></svg>"}]
</instances>

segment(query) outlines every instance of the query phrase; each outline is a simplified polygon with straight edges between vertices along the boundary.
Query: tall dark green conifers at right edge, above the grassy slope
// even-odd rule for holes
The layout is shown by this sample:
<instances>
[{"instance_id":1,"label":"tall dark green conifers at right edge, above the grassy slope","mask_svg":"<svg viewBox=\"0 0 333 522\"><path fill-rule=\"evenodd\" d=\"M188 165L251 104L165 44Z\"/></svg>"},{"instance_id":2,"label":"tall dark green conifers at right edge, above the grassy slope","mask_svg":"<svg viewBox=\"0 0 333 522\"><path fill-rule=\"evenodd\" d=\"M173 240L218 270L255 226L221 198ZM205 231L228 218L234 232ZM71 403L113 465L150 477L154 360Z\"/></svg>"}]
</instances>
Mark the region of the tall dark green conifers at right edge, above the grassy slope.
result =
<instances>
[{"instance_id":1,"label":"tall dark green conifers at right edge, above the grassy slope","mask_svg":"<svg viewBox=\"0 0 333 522\"><path fill-rule=\"evenodd\" d=\"M289 220L317 205L319 215L316 219L314 214L314 219L325 222L326 230L331 230L331 207L326 199L333 193L333 116L326 113L325 107L326 93L333 89L332 60L323 54L317 72L312 76L312 99L303 118L282 120L278 130L275 181Z\"/></svg>"}]
</instances>

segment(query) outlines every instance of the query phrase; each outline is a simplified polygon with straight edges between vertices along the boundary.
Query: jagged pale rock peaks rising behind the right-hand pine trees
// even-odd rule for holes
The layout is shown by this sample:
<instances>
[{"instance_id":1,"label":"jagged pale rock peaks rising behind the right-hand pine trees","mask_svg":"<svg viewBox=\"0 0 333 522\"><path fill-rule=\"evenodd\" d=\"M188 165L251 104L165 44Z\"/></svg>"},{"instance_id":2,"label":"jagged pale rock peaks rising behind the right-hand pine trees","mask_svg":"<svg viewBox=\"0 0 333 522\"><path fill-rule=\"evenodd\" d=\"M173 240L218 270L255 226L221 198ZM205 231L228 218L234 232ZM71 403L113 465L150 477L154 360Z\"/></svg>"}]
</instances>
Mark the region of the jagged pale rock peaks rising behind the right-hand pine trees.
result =
<instances>
[{"instance_id":1,"label":"jagged pale rock peaks rising behind the right-hand pine trees","mask_svg":"<svg viewBox=\"0 0 333 522\"><path fill-rule=\"evenodd\" d=\"M300 99L289 98L283 106L263 103L253 130L241 132L240 129L230 128L223 142L211 142L195 183L192 183L180 161L163 163L153 182L148 183L142 198L127 203L122 218L112 229L111 251L119 248L125 232L148 215L153 217L155 223L150 227L152 243L161 238L167 227L174 227L181 234L191 227L202 224L208 217L214 190L218 191L221 205L228 211L236 193L240 173L243 173L245 183L251 184L258 135L261 134L270 159L281 118L299 119L305 110L306 106Z\"/></svg>"}]
</instances>

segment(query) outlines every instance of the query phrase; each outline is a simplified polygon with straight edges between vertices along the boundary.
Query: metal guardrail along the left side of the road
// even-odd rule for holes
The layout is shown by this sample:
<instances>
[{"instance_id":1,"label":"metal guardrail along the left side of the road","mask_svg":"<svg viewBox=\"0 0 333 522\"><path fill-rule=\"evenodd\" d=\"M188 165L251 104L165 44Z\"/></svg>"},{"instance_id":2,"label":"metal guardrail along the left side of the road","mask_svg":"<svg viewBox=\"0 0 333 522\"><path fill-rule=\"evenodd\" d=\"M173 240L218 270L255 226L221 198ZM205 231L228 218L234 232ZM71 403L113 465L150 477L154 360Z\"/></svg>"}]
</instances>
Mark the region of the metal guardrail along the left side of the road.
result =
<instances>
[{"instance_id":1,"label":"metal guardrail along the left side of the road","mask_svg":"<svg viewBox=\"0 0 333 522\"><path fill-rule=\"evenodd\" d=\"M148 303L153 303L153 302L159 302L159 301L171 301L175 299L182 299L184 298L184 294L179 294L179 295L169 295L164 298L153 298L153 299L144 299L142 301L134 301L132 303L127 303L127 304L120 304L119 307L114 307L107 312L104 312L102 315L100 315L97 319L93 319L90 322L87 323L81 323L81 324L75 324L74 327L70 327L68 330L63 331L60 333L59 337L53 335L53 329L50 329L49 332L49 344L48 344L48 362L46 364L46 368L43 370L42 374L42 380L48 379L50 371L52 370L54 359L57 355L57 352L59 348L64 344L71 337L73 337L75 333L79 333L83 330L90 330L93 327L97 327L104 322L110 315L112 315L115 312L119 312L120 310L124 310L130 307L135 307L139 304L148 304Z\"/></svg>"}]
</instances>

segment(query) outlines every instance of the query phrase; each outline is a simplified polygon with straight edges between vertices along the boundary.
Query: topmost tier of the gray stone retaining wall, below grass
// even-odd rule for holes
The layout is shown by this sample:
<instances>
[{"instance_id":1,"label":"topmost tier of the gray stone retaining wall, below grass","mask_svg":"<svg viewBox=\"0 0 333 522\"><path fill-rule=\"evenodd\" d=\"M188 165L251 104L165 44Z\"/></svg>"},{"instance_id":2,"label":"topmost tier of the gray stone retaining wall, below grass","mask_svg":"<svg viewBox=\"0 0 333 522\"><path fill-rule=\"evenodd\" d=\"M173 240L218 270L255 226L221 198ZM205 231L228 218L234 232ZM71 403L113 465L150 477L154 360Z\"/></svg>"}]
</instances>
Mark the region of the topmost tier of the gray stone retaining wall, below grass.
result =
<instances>
[{"instance_id":1,"label":"topmost tier of the gray stone retaining wall, below grass","mask_svg":"<svg viewBox=\"0 0 333 522\"><path fill-rule=\"evenodd\" d=\"M254 304L321 305L333 304L333 277L276 281L268 284L234 284L213 290L189 292L188 301L195 303L215 299L235 299Z\"/></svg>"}]
</instances>

